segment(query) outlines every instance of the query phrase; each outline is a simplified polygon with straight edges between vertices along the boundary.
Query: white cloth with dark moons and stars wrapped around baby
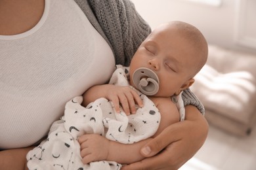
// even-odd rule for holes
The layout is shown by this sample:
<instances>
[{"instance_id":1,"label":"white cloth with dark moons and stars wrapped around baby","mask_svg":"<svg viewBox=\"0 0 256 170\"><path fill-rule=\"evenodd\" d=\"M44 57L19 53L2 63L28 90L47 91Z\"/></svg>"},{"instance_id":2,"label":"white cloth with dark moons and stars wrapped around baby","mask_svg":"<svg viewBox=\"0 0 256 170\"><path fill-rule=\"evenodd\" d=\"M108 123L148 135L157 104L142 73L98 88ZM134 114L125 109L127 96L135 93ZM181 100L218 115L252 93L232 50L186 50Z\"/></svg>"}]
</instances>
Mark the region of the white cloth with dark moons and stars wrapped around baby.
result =
<instances>
[{"instance_id":1,"label":"white cloth with dark moons and stars wrapped around baby","mask_svg":"<svg viewBox=\"0 0 256 170\"><path fill-rule=\"evenodd\" d=\"M117 68L111 84L128 86L127 71ZM87 107L81 106L78 96L66 103L64 116L53 123L48 138L27 155L29 169L121 169L114 161L95 161L84 165L81 161L77 138L85 133L96 133L119 143L132 144L156 133L160 112L148 97L140 94L142 108L127 116L117 113L111 101L96 99Z\"/></svg>"}]
</instances>

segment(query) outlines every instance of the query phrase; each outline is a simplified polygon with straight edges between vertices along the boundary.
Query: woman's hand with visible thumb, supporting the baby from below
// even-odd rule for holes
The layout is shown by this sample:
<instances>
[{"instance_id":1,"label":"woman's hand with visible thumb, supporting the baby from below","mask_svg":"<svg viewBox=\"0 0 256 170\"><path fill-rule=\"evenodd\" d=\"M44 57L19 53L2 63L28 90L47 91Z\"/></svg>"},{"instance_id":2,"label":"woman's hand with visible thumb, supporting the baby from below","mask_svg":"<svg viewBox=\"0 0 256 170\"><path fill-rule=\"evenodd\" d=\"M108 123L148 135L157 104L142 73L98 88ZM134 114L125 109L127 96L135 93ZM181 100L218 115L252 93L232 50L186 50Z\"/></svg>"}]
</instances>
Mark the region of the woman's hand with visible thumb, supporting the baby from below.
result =
<instances>
[{"instance_id":1,"label":"woman's hand with visible thumb, supporting the baby from below","mask_svg":"<svg viewBox=\"0 0 256 170\"><path fill-rule=\"evenodd\" d=\"M203 145L208 124L196 107L188 105L183 122L172 124L140 150L146 159L122 168L129 169L179 169ZM160 152L161 151L161 152Z\"/></svg>"}]
</instances>

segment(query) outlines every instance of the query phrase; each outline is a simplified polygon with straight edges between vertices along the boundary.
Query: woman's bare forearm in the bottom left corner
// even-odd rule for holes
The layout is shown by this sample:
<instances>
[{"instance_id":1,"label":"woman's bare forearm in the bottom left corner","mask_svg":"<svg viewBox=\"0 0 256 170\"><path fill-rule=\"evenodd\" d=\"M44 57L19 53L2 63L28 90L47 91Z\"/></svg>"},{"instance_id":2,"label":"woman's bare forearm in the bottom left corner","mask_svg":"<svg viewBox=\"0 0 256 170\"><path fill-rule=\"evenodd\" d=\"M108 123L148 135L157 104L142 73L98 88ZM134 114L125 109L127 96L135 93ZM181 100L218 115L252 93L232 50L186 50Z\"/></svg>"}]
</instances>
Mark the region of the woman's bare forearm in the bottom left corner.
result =
<instances>
[{"instance_id":1,"label":"woman's bare forearm in the bottom left corner","mask_svg":"<svg viewBox=\"0 0 256 170\"><path fill-rule=\"evenodd\" d=\"M26 155L34 146L3 150L0 152L0 169L28 169Z\"/></svg>"}]
</instances>

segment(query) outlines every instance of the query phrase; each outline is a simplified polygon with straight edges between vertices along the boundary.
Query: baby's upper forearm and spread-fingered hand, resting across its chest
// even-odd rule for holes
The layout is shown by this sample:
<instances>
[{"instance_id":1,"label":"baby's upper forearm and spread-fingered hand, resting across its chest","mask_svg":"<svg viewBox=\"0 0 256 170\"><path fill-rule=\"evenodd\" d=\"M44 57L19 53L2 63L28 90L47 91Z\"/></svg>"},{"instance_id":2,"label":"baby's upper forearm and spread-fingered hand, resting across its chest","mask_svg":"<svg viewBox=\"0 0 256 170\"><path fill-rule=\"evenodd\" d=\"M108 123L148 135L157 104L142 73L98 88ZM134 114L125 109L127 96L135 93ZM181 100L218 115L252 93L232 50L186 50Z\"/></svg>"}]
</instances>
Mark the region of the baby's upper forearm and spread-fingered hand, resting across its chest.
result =
<instances>
[{"instance_id":1,"label":"baby's upper forearm and spread-fingered hand, resting across its chest","mask_svg":"<svg viewBox=\"0 0 256 170\"><path fill-rule=\"evenodd\" d=\"M83 94L83 106L104 97L112 101L116 112L120 112L120 103L125 114L134 114L136 112L135 103L142 107L143 103L139 94L128 86L115 86L113 84L97 85L89 88Z\"/></svg>"}]
</instances>

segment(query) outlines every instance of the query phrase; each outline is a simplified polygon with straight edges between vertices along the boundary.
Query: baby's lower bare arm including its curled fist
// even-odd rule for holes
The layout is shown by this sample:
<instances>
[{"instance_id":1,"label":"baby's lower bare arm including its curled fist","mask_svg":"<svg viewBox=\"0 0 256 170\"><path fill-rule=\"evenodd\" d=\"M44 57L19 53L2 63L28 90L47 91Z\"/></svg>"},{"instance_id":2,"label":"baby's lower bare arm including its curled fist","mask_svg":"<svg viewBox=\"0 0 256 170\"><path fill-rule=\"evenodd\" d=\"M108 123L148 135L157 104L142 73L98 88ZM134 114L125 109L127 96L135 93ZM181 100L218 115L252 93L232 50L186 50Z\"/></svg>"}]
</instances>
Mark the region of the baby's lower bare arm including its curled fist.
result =
<instances>
[{"instance_id":1,"label":"baby's lower bare arm including its curled fist","mask_svg":"<svg viewBox=\"0 0 256 170\"><path fill-rule=\"evenodd\" d=\"M140 154L140 148L151 139L145 139L133 144L122 144L110 141L101 135L88 134L79 137L78 141L81 146L83 163L107 160L129 164L144 159L144 156Z\"/></svg>"}]
</instances>

